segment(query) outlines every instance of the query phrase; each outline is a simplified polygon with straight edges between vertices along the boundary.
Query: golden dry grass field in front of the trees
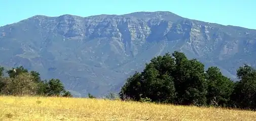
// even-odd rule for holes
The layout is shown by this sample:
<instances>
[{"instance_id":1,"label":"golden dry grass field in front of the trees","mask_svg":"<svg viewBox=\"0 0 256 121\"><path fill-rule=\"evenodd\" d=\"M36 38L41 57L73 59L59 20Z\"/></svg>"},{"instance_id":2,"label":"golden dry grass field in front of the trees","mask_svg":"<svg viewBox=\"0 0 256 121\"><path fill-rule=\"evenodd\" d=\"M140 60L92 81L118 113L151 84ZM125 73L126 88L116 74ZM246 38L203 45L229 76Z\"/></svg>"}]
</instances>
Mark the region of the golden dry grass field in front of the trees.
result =
<instances>
[{"instance_id":1,"label":"golden dry grass field in front of the trees","mask_svg":"<svg viewBox=\"0 0 256 121\"><path fill-rule=\"evenodd\" d=\"M256 112L86 98L0 97L0 120L255 120Z\"/></svg>"}]
</instances>

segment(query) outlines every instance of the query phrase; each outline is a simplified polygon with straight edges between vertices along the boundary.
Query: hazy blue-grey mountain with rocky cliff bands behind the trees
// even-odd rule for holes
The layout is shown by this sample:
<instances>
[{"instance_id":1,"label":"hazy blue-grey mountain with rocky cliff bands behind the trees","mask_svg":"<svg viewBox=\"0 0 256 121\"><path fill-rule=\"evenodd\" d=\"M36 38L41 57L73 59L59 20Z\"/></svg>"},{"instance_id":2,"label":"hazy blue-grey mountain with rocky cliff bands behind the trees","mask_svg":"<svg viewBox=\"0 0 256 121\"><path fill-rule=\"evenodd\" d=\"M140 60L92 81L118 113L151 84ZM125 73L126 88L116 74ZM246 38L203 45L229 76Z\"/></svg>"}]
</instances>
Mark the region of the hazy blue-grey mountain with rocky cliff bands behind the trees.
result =
<instances>
[{"instance_id":1,"label":"hazy blue-grey mountain with rocky cliff bands behind the trees","mask_svg":"<svg viewBox=\"0 0 256 121\"><path fill-rule=\"evenodd\" d=\"M22 65L44 79L59 78L75 96L117 92L152 57L174 50L235 79L244 63L255 67L256 30L170 12L38 15L0 27L0 65Z\"/></svg>"}]
</instances>

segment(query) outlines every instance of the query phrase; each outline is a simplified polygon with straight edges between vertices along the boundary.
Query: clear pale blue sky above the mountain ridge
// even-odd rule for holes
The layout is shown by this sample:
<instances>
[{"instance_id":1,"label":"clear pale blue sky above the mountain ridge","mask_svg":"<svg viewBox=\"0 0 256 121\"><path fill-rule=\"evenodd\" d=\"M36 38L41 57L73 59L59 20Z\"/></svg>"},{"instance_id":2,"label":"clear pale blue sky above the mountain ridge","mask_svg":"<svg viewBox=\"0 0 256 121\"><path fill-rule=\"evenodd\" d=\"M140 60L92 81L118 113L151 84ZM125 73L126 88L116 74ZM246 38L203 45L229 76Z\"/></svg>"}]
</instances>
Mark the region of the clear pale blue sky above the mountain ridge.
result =
<instances>
[{"instance_id":1,"label":"clear pale blue sky above the mountain ridge","mask_svg":"<svg viewBox=\"0 0 256 121\"><path fill-rule=\"evenodd\" d=\"M0 26L34 15L127 14L170 11L182 17L256 29L255 0L0 0Z\"/></svg>"}]
</instances>

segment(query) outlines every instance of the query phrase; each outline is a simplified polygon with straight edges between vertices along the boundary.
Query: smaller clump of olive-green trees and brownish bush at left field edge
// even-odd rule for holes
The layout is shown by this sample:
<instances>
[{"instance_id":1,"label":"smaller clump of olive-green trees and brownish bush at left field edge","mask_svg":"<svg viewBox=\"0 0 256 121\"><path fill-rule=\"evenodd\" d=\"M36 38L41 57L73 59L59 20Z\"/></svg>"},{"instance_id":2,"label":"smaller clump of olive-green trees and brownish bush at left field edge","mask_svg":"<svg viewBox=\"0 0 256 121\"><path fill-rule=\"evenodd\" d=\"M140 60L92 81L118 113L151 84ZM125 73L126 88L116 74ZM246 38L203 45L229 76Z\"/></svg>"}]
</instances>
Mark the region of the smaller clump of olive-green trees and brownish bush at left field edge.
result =
<instances>
[{"instance_id":1,"label":"smaller clump of olive-green trees and brownish bush at left field edge","mask_svg":"<svg viewBox=\"0 0 256 121\"><path fill-rule=\"evenodd\" d=\"M71 93L65 90L59 79L41 80L40 74L35 71L28 71L22 66L7 70L0 67L0 94L1 95L39 95L39 96L61 96L72 97Z\"/></svg>"}]
</instances>

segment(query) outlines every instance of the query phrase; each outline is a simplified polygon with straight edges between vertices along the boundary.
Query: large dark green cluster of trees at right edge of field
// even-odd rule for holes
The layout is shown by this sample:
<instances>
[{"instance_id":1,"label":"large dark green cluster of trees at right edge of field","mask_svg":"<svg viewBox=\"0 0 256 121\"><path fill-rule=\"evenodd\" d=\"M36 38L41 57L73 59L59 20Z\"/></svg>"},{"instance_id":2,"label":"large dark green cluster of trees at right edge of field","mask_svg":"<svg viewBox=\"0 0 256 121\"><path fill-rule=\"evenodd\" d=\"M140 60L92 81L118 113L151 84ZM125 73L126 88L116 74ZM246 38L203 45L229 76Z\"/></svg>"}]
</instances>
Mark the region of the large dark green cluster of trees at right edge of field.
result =
<instances>
[{"instance_id":1,"label":"large dark green cluster of trees at right edge of field","mask_svg":"<svg viewBox=\"0 0 256 121\"><path fill-rule=\"evenodd\" d=\"M239 81L224 76L217 67L204 65L174 51L157 56L142 72L130 76L119 92L122 100L171 103L176 105L221 106L256 109L256 71L243 65Z\"/></svg>"}]
</instances>

